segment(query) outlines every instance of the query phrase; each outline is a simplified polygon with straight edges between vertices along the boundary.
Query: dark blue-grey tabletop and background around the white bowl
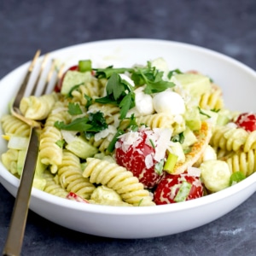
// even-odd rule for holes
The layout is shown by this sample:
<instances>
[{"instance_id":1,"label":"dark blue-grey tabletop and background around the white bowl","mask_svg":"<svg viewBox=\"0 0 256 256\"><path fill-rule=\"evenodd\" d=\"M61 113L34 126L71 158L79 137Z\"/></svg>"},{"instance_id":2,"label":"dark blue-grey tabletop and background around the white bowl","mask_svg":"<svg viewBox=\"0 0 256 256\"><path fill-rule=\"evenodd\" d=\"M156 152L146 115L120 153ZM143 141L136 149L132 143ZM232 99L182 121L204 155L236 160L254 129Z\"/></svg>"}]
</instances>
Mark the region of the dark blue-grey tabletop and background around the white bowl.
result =
<instances>
[{"instance_id":1,"label":"dark blue-grey tabletop and background around the white bowl","mask_svg":"<svg viewBox=\"0 0 256 256\"><path fill-rule=\"evenodd\" d=\"M256 69L255 28L255 0L1 0L0 78L28 61L35 49L45 53L108 38L201 45ZM0 185L1 250L13 204ZM22 255L256 255L255 228L256 195L211 224L144 240L88 236L29 212Z\"/></svg>"}]
</instances>

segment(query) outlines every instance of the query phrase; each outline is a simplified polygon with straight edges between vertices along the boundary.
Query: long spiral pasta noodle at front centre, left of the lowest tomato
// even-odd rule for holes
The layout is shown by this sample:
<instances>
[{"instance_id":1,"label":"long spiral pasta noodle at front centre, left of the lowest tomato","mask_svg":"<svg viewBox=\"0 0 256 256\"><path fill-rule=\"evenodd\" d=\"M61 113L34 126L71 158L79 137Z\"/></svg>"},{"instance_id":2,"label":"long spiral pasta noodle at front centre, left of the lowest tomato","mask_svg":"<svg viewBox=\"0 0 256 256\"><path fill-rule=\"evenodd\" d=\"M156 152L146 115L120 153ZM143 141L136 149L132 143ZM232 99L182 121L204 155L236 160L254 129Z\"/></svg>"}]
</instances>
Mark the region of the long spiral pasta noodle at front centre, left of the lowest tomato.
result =
<instances>
[{"instance_id":1,"label":"long spiral pasta noodle at front centre, left of the lowest tomato","mask_svg":"<svg viewBox=\"0 0 256 256\"><path fill-rule=\"evenodd\" d=\"M88 158L83 176L88 177L90 183L101 183L114 189L125 202L133 206L154 206L148 190L143 189L143 183L139 183L137 177L125 167L106 160Z\"/></svg>"}]
</instances>

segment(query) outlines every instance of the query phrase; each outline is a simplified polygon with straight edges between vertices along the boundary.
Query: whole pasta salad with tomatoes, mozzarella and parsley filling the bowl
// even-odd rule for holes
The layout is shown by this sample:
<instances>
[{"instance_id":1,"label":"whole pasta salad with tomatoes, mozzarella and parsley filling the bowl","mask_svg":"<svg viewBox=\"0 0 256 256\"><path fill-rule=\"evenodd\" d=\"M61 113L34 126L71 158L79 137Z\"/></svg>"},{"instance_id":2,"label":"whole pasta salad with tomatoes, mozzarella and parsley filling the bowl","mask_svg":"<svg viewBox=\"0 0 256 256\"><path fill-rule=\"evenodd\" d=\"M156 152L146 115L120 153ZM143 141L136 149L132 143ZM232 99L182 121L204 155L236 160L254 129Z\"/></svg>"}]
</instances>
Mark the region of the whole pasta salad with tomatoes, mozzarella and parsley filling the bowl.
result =
<instances>
[{"instance_id":1,"label":"whole pasta salad with tomatoes, mozzarella and parsley filling the bowl","mask_svg":"<svg viewBox=\"0 0 256 256\"><path fill-rule=\"evenodd\" d=\"M33 186L90 204L147 207L226 189L255 171L256 115L224 107L221 88L158 58L133 67L81 60L20 112L38 120ZM3 165L20 177L30 127L1 119Z\"/></svg>"}]
</instances>

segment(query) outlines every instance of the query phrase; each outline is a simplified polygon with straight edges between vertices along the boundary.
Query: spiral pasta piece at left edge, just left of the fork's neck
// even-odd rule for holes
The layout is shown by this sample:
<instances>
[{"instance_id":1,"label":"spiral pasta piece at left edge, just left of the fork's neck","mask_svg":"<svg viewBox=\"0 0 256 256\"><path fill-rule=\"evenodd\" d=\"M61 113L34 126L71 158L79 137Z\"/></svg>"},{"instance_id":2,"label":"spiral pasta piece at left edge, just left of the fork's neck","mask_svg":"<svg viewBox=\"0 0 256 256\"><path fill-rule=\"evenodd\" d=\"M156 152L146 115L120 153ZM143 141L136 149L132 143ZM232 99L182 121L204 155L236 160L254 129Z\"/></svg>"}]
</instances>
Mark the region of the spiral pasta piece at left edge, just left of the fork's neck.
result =
<instances>
[{"instance_id":1,"label":"spiral pasta piece at left edge, just left of the fork's neck","mask_svg":"<svg viewBox=\"0 0 256 256\"><path fill-rule=\"evenodd\" d=\"M30 126L22 122L15 116L6 114L1 119L3 132L5 134L14 134L21 137L30 136Z\"/></svg>"}]
</instances>

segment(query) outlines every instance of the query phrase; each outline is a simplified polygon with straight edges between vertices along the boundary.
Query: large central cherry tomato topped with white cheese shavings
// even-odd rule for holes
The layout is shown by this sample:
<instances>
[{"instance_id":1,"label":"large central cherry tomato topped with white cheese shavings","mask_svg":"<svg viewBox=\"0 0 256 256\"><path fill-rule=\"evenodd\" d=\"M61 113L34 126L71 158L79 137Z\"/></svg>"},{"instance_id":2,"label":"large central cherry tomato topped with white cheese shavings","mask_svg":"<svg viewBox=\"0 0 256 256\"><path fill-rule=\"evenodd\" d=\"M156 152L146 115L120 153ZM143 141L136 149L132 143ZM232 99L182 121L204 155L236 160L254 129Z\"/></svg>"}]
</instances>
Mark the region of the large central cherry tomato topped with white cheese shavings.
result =
<instances>
[{"instance_id":1,"label":"large central cherry tomato topped with white cheese shavings","mask_svg":"<svg viewBox=\"0 0 256 256\"><path fill-rule=\"evenodd\" d=\"M115 157L119 166L124 166L131 171L134 176L143 183L145 188L152 189L160 182L163 172L156 169L157 161L154 160L155 148L149 143L148 130L138 131L136 139L129 145L125 145L125 141L119 139L116 143ZM133 139L135 132L131 132ZM153 131L149 131L153 133ZM126 148L125 148L126 147Z\"/></svg>"}]
</instances>

